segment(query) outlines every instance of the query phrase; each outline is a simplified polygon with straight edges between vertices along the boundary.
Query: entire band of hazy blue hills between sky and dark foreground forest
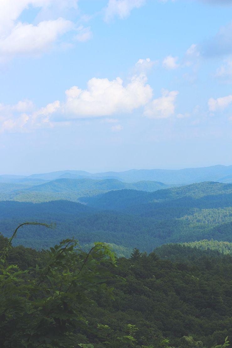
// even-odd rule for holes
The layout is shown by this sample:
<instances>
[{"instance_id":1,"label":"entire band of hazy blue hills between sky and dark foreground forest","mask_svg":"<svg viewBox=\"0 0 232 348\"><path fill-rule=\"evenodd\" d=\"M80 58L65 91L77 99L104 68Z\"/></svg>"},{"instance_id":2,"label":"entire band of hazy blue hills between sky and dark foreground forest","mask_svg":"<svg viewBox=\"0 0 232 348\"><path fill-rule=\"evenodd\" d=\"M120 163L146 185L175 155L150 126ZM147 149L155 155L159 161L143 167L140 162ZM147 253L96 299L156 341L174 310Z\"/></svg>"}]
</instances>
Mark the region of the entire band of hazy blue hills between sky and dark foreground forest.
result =
<instances>
[{"instance_id":1,"label":"entire band of hazy blue hills between sky and dark foreground forest","mask_svg":"<svg viewBox=\"0 0 232 348\"><path fill-rule=\"evenodd\" d=\"M127 256L133 247L152 251L170 242L211 238L232 242L230 177L232 182L232 166L221 165L2 175L0 231L10 236L24 221L56 223L49 231L24 229L15 243L48 248L75 236L82 246L101 240ZM191 181L194 183L185 184Z\"/></svg>"}]
</instances>

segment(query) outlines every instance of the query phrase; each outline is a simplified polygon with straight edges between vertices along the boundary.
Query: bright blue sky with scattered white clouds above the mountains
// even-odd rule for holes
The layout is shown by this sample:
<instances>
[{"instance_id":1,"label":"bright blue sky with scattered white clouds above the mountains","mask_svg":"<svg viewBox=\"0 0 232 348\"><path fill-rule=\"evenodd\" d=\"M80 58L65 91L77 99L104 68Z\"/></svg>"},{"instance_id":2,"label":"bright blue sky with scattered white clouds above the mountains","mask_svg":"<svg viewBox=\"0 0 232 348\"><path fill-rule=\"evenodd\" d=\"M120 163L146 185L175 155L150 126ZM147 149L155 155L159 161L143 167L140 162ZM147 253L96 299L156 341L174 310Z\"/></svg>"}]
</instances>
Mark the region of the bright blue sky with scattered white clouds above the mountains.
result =
<instances>
[{"instance_id":1,"label":"bright blue sky with scattered white clouds above the mountains","mask_svg":"<svg viewBox=\"0 0 232 348\"><path fill-rule=\"evenodd\" d=\"M0 174L232 164L232 0L1 0Z\"/></svg>"}]
</instances>

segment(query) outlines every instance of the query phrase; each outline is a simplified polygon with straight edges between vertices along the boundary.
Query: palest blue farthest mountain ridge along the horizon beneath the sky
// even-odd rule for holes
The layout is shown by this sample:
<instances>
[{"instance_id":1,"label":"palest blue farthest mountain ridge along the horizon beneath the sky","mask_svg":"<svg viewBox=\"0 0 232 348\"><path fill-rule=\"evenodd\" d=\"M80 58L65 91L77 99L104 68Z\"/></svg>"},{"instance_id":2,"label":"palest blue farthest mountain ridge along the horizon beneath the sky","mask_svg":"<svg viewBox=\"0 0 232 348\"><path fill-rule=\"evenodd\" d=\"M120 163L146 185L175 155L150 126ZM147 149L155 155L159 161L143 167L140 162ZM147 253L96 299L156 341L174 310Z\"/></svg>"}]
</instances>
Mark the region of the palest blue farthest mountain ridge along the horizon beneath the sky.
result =
<instances>
[{"instance_id":1,"label":"palest blue farthest mountain ridge along the horizon beneath the sky","mask_svg":"<svg viewBox=\"0 0 232 348\"><path fill-rule=\"evenodd\" d=\"M216 165L185 169L130 169L125 172L89 173L86 171L64 170L29 176L0 175L0 182L20 182L21 180L57 179L116 179L131 183L137 181L159 181L165 184L186 185L202 181L232 182L232 165Z\"/></svg>"}]
</instances>

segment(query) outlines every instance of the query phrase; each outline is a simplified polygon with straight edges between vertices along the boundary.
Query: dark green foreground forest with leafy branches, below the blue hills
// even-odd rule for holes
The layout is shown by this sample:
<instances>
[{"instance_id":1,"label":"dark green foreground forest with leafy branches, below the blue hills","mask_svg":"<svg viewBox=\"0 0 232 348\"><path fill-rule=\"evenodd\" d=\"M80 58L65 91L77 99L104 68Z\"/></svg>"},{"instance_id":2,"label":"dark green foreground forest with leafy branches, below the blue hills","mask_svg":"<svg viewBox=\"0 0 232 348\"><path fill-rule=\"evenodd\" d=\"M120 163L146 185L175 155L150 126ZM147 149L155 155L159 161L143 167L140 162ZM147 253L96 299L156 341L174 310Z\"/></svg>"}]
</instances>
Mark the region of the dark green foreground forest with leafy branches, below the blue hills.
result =
<instances>
[{"instance_id":1,"label":"dark green foreground forest with leafy branches, below the blue hills","mask_svg":"<svg viewBox=\"0 0 232 348\"><path fill-rule=\"evenodd\" d=\"M2 347L216 348L231 340L230 255L169 245L167 255L135 249L115 260L103 244L87 253L72 240L49 252L6 254L6 246L0 236Z\"/></svg>"}]
</instances>

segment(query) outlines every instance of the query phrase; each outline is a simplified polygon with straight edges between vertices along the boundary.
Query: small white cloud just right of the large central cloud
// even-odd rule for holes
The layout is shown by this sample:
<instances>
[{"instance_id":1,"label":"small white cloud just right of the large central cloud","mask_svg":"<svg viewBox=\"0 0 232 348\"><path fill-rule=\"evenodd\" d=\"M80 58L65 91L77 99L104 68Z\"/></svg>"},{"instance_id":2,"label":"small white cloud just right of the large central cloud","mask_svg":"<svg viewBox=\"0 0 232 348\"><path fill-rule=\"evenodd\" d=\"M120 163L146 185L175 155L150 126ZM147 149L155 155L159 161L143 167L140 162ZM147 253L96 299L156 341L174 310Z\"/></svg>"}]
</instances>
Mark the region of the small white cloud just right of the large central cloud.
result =
<instances>
[{"instance_id":1,"label":"small white cloud just right of the large central cloud","mask_svg":"<svg viewBox=\"0 0 232 348\"><path fill-rule=\"evenodd\" d=\"M162 96L158 99L154 99L151 103L147 104L144 109L144 116L148 118L168 118L175 112L176 96L179 92L174 90L169 92L168 90L162 90Z\"/></svg>"}]
</instances>

